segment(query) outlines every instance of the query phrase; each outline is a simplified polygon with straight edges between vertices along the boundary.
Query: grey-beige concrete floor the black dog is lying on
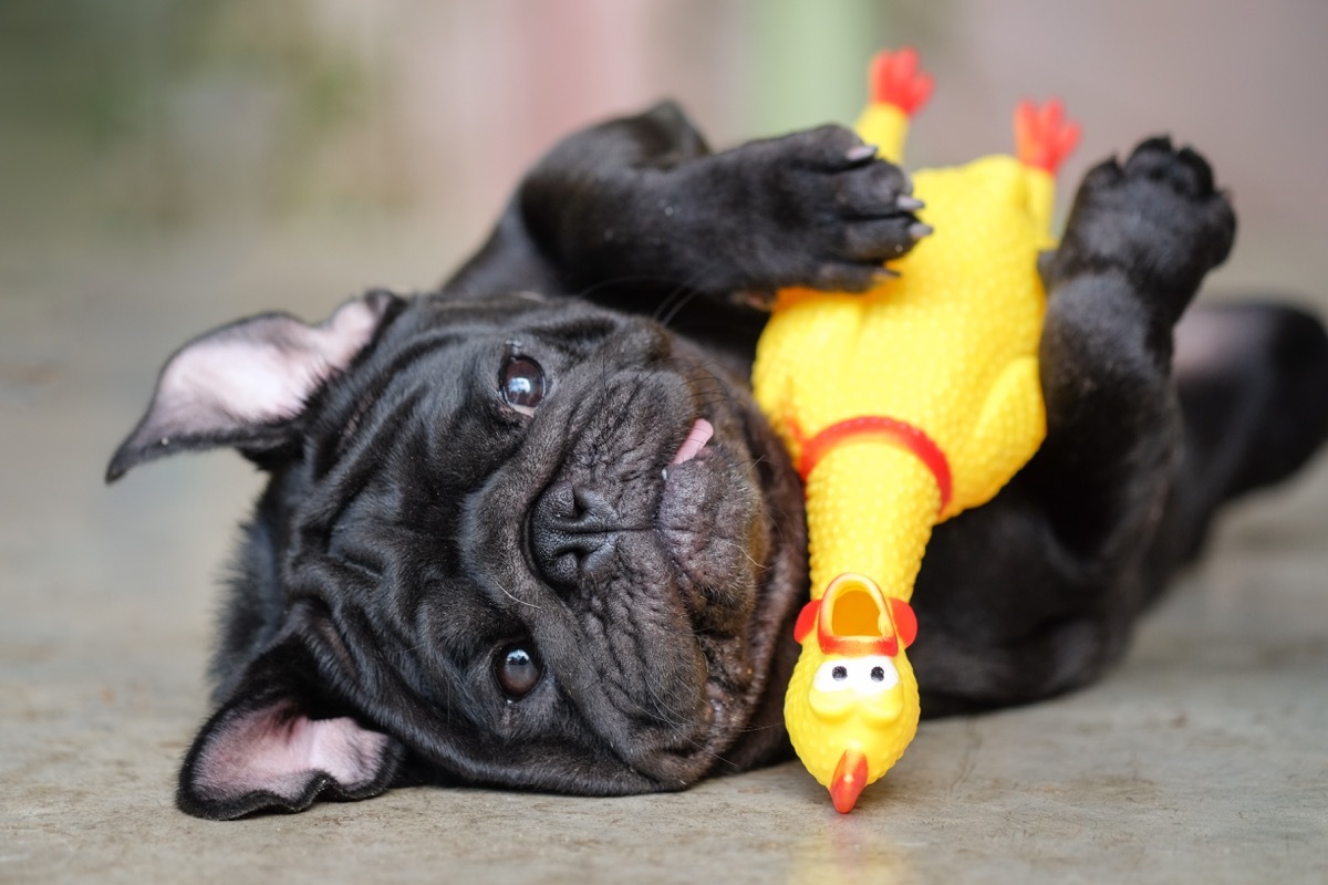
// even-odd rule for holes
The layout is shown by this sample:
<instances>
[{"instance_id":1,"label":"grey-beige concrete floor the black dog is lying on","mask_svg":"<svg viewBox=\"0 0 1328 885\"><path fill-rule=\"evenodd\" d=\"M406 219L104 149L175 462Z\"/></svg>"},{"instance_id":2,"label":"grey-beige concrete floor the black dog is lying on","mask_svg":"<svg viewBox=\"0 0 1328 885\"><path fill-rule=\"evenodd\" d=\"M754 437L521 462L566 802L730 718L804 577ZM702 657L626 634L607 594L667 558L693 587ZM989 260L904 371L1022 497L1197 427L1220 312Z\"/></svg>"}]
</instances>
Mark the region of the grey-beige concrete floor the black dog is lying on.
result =
<instances>
[{"instance_id":1,"label":"grey-beige concrete floor the black dog is lying on","mask_svg":"<svg viewBox=\"0 0 1328 885\"><path fill-rule=\"evenodd\" d=\"M846 817L797 766L615 800L175 811L214 579L259 478L230 454L110 490L101 471L181 341L428 280L429 251L392 243L214 238L0 268L0 881L1328 880L1328 460L1232 513L1101 685L926 723Z\"/></svg>"}]
</instances>

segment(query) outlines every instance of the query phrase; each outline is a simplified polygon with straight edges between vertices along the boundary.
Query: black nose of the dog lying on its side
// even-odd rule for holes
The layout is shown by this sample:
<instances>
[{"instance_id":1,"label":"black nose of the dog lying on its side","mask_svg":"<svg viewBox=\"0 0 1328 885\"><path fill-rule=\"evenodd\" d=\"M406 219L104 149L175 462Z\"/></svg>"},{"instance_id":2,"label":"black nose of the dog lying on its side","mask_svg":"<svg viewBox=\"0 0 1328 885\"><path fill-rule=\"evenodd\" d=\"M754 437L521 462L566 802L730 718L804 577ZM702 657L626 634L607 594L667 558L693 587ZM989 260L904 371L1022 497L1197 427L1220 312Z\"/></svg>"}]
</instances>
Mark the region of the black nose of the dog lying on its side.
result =
<instances>
[{"instance_id":1,"label":"black nose of the dog lying on its side","mask_svg":"<svg viewBox=\"0 0 1328 885\"><path fill-rule=\"evenodd\" d=\"M551 585L571 588L614 555L614 507L598 491L559 480L544 490L530 520L535 567Z\"/></svg>"}]
</instances>

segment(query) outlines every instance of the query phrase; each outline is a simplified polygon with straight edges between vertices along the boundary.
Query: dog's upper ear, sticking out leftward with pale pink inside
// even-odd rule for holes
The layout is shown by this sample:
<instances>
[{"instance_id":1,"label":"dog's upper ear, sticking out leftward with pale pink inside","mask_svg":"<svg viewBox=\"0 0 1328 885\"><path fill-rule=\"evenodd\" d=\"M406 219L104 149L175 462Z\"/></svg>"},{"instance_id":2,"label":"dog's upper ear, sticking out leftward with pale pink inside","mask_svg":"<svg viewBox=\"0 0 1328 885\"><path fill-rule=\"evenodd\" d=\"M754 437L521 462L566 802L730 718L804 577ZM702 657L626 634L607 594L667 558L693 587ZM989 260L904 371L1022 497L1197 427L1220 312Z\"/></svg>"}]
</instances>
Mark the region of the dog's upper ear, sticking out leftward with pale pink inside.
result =
<instances>
[{"instance_id":1,"label":"dog's upper ear, sticking out leftward with pale pink inside","mask_svg":"<svg viewBox=\"0 0 1328 885\"><path fill-rule=\"evenodd\" d=\"M106 482L153 458L290 442L309 397L359 356L400 299L374 291L321 325L284 313L240 320L194 338L166 361L147 413L116 450Z\"/></svg>"}]
</instances>

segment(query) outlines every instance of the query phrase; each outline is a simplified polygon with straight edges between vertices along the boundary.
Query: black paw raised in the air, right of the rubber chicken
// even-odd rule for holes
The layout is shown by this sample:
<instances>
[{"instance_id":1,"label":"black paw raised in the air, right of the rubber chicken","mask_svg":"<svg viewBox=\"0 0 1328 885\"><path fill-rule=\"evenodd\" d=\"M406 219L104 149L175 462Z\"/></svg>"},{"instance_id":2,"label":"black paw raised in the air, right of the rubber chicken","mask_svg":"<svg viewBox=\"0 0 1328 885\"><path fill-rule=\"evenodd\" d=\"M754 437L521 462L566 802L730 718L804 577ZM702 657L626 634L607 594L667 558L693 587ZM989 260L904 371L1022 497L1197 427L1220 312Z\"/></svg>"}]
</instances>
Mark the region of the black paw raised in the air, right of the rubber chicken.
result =
<instances>
[{"instance_id":1,"label":"black paw raised in the air, right of the rubber chicken","mask_svg":"<svg viewBox=\"0 0 1328 885\"><path fill-rule=\"evenodd\" d=\"M1203 275L1226 260L1235 228L1207 161L1167 138L1150 138L1125 163L1110 159L1085 176L1046 265L1048 283L1118 268L1139 292L1162 299L1174 320Z\"/></svg>"}]
</instances>

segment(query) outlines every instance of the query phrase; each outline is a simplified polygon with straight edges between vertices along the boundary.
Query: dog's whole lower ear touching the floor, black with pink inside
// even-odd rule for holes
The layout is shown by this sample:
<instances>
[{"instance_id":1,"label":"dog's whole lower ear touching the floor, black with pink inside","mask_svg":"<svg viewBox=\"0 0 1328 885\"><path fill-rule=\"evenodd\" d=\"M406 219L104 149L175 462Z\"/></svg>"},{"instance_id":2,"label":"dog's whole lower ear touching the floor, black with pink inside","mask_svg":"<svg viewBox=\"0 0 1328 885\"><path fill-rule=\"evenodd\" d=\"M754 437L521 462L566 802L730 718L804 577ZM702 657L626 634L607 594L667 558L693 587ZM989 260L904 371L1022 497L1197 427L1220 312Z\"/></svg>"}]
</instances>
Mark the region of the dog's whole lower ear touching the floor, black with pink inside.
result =
<instances>
[{"instance_id":1,"label":"dog's whole lower ear touching the floor, black with pink inside","mask_svg":"<svg viewBox=\"0 0 1328 885\"><path fill-rule=\"evenodd\" d=\"M300 620L300 612L292 617ZM368 799L390 785L405 751L328 691L319 658L340 669L327 659L336 654L288 630L250 665L185 756L175 793L181 811L232 820L303 811L319 796Z\"/></svg>"}]
</instances>

